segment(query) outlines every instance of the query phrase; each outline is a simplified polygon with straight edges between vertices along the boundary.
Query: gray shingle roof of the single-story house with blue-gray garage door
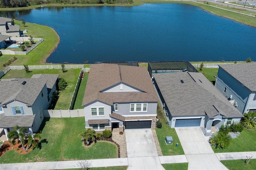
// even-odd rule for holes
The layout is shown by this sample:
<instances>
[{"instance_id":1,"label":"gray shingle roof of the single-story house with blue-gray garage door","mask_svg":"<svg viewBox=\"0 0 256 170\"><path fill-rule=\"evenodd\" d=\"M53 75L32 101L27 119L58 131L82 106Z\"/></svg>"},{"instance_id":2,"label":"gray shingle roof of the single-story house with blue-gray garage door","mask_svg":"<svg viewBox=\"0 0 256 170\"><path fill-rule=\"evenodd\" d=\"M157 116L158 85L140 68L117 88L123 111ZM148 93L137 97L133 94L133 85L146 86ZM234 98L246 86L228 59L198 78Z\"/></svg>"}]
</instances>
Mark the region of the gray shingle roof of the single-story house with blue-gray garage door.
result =
<instances>
[{"instance_id":1,"label":"gray shingle roof of the single-story house with blue-gray garage door","mask_svg":"<svg viewBox=\"0 0 256 170\"><path fill-rule=\"evenodd\" d=\"M154 79L172 116L243 117L202 73L157 73Z\"/></svg>"}]
</instances>

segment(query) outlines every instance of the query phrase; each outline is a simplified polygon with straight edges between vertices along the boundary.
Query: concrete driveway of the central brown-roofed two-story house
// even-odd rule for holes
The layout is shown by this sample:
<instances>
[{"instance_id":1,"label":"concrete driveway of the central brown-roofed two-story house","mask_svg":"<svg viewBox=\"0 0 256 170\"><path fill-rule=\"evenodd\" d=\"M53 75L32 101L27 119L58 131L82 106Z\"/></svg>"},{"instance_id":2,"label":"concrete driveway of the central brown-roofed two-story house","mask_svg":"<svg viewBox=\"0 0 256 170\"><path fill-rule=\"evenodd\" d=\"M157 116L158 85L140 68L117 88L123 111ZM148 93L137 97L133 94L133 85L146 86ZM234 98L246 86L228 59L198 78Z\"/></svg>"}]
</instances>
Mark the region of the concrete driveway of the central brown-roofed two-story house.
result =
<instances>
[{"instance_id":1,"label":"concrete driveway of the central brown-roofed two-story house","mask_svg":"<svg viewBox=\"0 0 256 170\"><path fill-rule=\"evenodd\" d=\"M151 129L125 130L128 170L164 170Z\"/></svg>"}]
</instances>

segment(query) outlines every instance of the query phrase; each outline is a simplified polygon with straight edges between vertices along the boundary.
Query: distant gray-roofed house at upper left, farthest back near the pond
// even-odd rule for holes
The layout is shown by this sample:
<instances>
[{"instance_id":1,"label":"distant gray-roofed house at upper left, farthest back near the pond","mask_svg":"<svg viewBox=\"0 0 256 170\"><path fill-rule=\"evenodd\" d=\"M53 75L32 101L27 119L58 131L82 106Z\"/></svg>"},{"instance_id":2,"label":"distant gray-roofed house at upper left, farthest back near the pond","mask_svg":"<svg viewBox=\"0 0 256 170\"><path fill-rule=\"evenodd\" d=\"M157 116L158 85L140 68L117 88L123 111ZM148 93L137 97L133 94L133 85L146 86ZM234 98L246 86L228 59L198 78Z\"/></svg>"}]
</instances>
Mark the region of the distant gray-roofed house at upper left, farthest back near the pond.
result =
<instances>
[{"instance_id":1,"label":"distant gray-roofed house at upper left, farthest back near the pond","mask_svg":"<svg viewBox=\"0 0 256 170\"><path fill-rule=\"evenodd\" d=\"M20 37L20 26L12 24L10 18L0 17L0 34L11 37Z\"/></svg>"}]
</instances>

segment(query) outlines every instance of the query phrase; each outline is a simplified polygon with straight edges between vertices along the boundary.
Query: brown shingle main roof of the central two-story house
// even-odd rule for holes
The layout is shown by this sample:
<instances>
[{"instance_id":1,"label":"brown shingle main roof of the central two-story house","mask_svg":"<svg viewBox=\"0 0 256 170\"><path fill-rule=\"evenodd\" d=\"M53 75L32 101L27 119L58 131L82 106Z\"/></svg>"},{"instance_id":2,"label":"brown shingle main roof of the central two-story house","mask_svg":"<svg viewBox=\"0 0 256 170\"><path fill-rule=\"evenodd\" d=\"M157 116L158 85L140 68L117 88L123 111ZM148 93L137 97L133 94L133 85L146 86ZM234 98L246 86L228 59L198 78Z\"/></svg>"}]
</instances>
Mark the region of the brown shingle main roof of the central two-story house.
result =
<instances>
[{"instance_id":1,"label":"brown shingle main roof of the central two-story house","mask_svg":"<svg viewBox=\"0 0 256 170\"><path fill-rule=\"evenodd\" d=\"M141 91L100 92L120 82ZM157 102L158 97L145 68L101 63L92 64L90 67L82 106L97 100L113 105L113 103Z\"/></svg>"}]
</instances>

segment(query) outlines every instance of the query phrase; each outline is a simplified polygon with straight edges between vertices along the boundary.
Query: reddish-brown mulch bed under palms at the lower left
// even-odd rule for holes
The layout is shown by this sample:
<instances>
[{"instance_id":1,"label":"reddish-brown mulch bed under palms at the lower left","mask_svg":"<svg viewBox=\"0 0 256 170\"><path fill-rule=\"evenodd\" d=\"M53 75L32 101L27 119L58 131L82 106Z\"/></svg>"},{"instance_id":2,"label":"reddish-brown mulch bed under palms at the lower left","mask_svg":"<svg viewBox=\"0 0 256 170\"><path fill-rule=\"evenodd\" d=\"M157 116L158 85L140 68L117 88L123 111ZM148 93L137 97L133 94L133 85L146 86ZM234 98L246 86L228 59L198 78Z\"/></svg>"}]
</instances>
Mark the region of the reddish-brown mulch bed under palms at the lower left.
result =
<instances>
[{"instance_id":1,"label":"reddish-brown mulch bed under palms at the lower left","mask_svg":"<svg viewBox=\"0 0 256 170\"><path fill-rule=\"evenodd\" d=\"M36 140L38 142L38 140ZM27 146L26 144L24 145L25 147ZM6 152L9 150L15 150L18 154L27 154L32 148L29 148L28 150L23 150L21 143L18 143L18 140L15 141L15 144L11 144L8 141L4 141L4 144L0 148L0 157L4 155Z\"/></svg>"}]
</instances>

